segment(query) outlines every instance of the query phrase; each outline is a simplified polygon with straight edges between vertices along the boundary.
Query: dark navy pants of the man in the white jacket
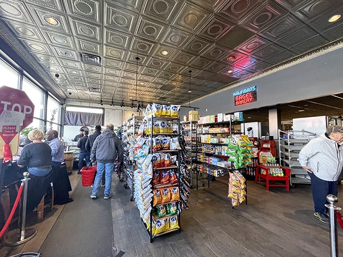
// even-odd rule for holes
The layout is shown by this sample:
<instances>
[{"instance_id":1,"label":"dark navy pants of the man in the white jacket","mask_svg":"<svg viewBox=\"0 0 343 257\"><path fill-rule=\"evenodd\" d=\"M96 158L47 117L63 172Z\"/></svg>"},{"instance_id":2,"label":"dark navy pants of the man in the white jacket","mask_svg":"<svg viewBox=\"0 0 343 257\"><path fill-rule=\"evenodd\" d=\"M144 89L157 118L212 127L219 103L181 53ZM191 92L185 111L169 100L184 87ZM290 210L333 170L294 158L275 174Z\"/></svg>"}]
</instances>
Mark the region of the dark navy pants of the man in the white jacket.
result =
<instances>
[{"instance_id":1,"label":"dark navy pants of the man in the white jacket","mask_svg":"<svg viewBox=\"0 0 343 257\"><path fill-rule=\"evenodd\" d=\"M324 213L327 204L326 196L337 196L337 181L326 181L316 177L313 173L307 172L311 177L311 189L314 203L314 212Z\"/></svg>"}]
</instances>

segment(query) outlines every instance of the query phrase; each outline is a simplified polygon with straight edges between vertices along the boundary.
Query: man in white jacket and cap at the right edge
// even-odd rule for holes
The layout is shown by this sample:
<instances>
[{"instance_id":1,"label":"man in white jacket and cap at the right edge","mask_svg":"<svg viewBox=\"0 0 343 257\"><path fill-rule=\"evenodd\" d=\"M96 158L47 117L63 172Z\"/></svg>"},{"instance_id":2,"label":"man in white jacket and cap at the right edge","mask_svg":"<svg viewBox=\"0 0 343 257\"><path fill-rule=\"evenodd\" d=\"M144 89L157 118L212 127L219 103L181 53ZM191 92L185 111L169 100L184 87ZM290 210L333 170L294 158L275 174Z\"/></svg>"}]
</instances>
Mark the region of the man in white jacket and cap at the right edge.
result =
<instances>
[{"instance_id":1,"label":"man in white jacket and cap at the right edge","mask_svg":"<svg viewBox=\"0 0 343 257\"><path fill-rule=\"evenodd\" d=\"M312 139L299 153L298 161L311 178L314 216L329 223L326 196L337 196L337 179L343 167L343 127L328 126L326 133Z\"/></svg>"}]
</instances>

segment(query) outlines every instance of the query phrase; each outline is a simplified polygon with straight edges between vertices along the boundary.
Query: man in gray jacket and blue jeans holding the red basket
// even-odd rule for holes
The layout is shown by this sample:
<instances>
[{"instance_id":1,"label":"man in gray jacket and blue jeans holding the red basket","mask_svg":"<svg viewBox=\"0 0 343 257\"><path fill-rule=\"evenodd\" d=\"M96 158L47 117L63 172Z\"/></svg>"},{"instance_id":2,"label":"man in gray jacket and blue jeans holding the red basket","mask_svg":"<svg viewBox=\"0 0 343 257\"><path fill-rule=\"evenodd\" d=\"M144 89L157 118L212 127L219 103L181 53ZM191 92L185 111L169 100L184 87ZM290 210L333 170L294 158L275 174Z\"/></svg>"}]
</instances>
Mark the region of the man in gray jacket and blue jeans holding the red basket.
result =
<instances>
[{"instance_id":1,"label":"man in gray jacket and blue jeans holding the red basket","mask_svg":"<svg viewBox=\"0 0 343 257\"><path fill-rule=\"evenodd\" d=\"M99 135L91 150L91 160L97 162L96 175L93 183L92 195L90 198L96 199L101 177L105 172L104 199L112 197L111 184L112 172L115 164L120 165L123 161L123 145L116 133L113 132L113 124L107 124L106 130Z\"/></svg>"}]
</instances>

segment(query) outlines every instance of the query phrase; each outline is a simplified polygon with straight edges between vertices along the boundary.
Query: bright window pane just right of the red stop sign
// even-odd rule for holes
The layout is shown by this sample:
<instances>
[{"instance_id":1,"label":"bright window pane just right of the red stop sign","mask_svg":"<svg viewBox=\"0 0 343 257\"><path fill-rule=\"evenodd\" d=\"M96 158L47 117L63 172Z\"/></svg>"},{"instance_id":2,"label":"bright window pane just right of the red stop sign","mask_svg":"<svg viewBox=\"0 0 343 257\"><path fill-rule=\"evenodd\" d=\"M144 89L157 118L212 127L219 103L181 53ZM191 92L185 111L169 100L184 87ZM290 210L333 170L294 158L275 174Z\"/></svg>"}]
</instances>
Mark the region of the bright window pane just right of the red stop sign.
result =
<instances>
[{"instance_id":1,"label":"bright window pane just right of the red stop sign","mask_svg":"<svg viewBox=\"0 0 343 257\"><path fill-rule=\"evenodd\" d=\"M30 98L34 105L33 116L35 118L44 118L44 92L35 86L28 79L23 79L23 91Z\"/></svg>"}]
</instances>

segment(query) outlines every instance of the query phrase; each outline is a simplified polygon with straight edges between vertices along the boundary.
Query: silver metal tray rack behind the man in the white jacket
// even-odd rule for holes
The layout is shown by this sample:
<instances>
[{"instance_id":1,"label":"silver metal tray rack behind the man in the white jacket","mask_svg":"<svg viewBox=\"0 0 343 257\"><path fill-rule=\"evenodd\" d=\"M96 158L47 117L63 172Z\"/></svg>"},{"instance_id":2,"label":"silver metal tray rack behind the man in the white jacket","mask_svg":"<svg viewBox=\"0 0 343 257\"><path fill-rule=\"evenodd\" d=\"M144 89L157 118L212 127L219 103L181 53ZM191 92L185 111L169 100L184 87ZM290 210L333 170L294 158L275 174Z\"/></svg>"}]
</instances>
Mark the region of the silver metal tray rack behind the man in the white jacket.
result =
<instances>
[{"instance_id":1,"label":"silver metal tray rack behind the man in the white jacket","mask_svg":"<svg viewBox=\"0 0 343 257\"><path fill-rule=\"evenodd\" d=\"M280 165L291 169L290 184L294 187L296 183L311 183L310 176L304 170L299 161L300 150L313 138L315 133L305 130L301 131L281 131L279 133L279 157Z\"/></svg>"}]
</instances>

